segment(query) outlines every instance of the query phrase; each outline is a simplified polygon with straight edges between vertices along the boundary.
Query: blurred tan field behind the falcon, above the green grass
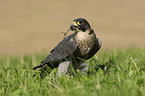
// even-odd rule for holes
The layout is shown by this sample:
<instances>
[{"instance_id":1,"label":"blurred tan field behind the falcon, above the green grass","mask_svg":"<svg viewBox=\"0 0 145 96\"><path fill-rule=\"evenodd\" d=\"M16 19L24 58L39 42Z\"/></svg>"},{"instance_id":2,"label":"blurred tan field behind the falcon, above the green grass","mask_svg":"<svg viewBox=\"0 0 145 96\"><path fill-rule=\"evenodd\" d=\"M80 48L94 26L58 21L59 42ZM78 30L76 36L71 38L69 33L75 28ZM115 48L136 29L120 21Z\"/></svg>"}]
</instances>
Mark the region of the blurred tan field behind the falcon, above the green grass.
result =
<instances>
[{"instance_id":1,"label":"blurred tan field behind the falcon, above the green grass","mask_svg":"<svg viewBox=\"0 0 145 96\"><path fill-rule=\"evenodd\" d=\"M48 52L78 17L103 48L145 46L145 0L0 0L0 55Z\"/></svg>"}]
</instances>

